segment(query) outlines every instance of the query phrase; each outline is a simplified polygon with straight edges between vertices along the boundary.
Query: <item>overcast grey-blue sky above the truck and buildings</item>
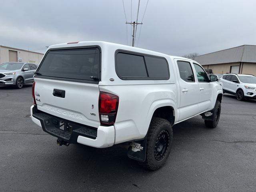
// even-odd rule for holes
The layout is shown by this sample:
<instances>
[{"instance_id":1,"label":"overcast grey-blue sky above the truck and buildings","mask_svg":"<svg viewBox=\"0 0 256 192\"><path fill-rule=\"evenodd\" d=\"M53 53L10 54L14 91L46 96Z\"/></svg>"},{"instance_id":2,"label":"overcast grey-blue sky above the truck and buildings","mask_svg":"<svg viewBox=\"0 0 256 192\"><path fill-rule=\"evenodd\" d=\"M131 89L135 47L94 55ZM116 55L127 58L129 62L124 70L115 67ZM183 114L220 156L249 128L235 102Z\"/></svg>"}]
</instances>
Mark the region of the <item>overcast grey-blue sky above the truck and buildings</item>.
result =
<instances>
[{"instance_id":1,"label":"overcast grey-blue sky above the truck and buildings","mask_svg":"<svg viewBox=\"0 0 256 192\"><path fill-rule=\"evenodd\" d=\"M138 2L1 0L0 45L43 53L64 42L131 45L125 22L137 20ZM182 56L256 45L255 8L256 0L140 0L135 46Z\"/></svg>"}]
</instances>

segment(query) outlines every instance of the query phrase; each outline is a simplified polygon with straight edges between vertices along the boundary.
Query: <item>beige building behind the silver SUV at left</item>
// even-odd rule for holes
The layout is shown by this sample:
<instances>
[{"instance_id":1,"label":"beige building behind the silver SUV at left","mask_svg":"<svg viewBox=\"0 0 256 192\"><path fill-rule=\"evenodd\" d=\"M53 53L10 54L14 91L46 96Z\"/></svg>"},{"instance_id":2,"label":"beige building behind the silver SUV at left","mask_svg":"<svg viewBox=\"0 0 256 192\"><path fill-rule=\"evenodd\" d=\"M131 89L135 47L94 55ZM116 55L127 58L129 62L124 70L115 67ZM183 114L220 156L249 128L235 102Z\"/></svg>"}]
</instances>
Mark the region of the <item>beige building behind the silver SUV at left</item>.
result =
<instances>
[{"instance_id":1,"label":"beige building behind the silver SUV at left","mask_svg":"<svg viewBox=\"0 0 256 192\"><path fill-rule=\"evenodd\" d=\"M39 64L44 54L0 45L0 64L5 62L30 62Z\"/></svg>"}]
</instances>

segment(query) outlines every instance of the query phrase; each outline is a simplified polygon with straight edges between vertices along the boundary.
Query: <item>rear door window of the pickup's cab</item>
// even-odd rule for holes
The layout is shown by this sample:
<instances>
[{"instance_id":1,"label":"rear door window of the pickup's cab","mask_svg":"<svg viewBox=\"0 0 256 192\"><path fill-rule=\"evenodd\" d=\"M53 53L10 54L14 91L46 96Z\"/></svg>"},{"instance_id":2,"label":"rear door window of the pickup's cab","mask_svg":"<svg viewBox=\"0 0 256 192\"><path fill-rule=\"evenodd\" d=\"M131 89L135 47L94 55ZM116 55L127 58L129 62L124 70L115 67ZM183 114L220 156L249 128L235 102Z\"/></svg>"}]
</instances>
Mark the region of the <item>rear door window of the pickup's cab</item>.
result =
<instances>
[{"instance_id":1,"label":"rear door window of the pickup's cab","mask_svg":"<svg viewBox=\"0 0 256 192\"><path fill-rule=\"evenodd\" d=\"M177 64L180 72L180 78L186 82L195 82L190 62L177 61Z\"/></svg>"}]
</instances>

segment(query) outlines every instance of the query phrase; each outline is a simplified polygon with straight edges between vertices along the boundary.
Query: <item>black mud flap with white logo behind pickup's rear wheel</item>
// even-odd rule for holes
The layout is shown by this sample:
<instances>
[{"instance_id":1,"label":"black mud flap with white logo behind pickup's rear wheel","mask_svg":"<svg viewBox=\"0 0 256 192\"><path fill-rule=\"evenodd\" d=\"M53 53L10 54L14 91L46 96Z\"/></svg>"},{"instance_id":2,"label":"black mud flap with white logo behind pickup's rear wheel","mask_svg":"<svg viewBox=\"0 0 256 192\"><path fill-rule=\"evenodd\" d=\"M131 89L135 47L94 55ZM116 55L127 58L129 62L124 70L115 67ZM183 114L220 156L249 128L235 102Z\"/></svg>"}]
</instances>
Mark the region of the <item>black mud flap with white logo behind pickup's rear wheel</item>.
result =
<instances>
[{"instance_id":1,"label":"black mud flap with white logo behind pickup's rear wheel","mask_svg":"<svg viewBox=\"0 0 256 192\"><path fill-rule=\"evenodd\" d=\"M144 162L146 160L146 144L146 137L143 140L128 142L127 156L131 159Z\"/></svg>"}]
</instances>

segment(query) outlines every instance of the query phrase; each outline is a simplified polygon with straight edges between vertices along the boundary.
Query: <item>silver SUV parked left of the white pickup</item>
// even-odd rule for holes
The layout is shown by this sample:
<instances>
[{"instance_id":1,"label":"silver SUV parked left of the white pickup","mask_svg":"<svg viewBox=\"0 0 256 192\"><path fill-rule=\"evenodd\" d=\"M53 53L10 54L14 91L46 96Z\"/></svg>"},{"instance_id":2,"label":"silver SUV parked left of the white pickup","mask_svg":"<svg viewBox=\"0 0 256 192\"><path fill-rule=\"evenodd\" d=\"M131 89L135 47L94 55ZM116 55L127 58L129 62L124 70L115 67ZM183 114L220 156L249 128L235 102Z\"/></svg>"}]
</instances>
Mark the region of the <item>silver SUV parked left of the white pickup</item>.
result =
<instances>
[{"instance_id":1,"label":"silver SUV parked left of the white pickup","mask_svg":"<svg viewBox=\"0 0 256 192\"><path fill-rule=\"evenodd\" d=\"M21 89L24 84L34 82L36 68L36 64L27 62L0 64L0 85L14 85Z\"/></svg>"}]
</instances>

